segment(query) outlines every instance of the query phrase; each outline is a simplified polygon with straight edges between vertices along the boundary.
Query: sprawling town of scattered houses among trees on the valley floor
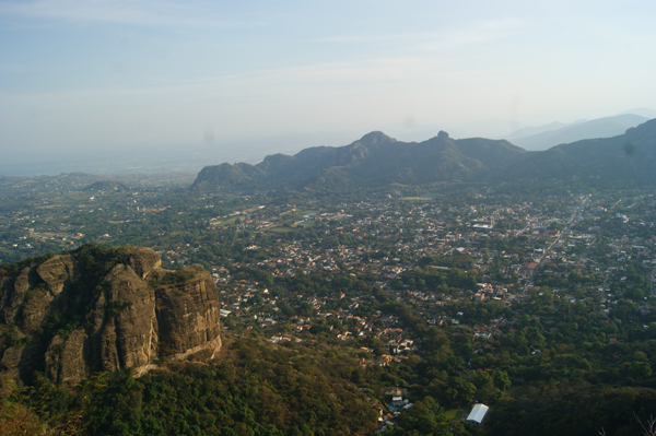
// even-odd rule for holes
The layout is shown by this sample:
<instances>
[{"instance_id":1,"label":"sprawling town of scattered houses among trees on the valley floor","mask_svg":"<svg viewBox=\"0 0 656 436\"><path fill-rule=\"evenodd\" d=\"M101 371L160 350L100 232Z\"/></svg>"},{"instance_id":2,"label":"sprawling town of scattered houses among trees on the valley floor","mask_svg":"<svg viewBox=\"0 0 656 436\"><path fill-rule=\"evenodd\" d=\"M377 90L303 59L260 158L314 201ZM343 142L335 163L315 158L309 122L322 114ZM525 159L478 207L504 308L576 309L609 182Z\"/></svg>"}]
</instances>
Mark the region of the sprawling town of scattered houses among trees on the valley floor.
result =
<instances>
[{"instance_id":1,"label":"sprawling town of scattered houses among trees on the valley floor","mask_svg":"<svg viewBox=\"0 0 656 436\"><path fill-rule=\"evenodd\" d=\"M2 260L93 243L152 247L169 269L200 263L226 338L319 341L387 370L372 398L382 429L425 390L403 368L440 354L441 334L461 349L457 374L472 374L470 389L433 393L453 419L573 367L652 375L656 192L469 186L317 199L81 185L5 185Z\"/></svg>"}]
</instances>

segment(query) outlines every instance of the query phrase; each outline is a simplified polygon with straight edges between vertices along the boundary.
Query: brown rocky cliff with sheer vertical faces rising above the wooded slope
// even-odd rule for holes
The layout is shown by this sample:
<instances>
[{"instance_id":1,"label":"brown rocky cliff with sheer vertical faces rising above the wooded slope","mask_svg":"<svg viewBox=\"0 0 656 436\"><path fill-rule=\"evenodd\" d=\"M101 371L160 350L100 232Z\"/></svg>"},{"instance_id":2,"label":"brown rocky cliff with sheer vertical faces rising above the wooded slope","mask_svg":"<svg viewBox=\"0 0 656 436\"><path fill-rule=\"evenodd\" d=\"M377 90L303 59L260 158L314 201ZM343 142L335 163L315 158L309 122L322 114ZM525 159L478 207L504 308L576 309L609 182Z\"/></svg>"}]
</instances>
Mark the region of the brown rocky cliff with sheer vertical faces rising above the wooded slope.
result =
<instances>
[{"instance_id":1,"label":"brown rocky cliff with sheer vertical faces rising above the wooded slope","mask_svg":"<svg viewBox=\"0 0 656 436\"><path fill-rule=\"evenodd\" d=\"M84 246L0 270L0 370L74 385L221 347L219 299L199 266L161 269L147 248Z\"/></svg>"}]
</instances>

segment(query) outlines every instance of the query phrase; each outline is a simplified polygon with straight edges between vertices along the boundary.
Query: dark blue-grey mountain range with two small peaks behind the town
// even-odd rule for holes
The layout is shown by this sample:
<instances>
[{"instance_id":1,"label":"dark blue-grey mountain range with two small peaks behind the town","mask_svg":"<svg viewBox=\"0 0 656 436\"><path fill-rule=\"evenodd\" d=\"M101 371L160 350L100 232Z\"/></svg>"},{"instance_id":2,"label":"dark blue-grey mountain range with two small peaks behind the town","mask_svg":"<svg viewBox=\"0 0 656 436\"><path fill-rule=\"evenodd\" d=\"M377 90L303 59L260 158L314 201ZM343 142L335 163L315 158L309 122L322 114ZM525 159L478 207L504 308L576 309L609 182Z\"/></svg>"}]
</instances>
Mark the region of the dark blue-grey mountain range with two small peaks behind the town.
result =
<instances>
[{"instance_id":1,"label":"dark blue-grey mountain range with two small peaks behind the town","mask_svg":"<svg viewBox=\"0 0 656 436\"><path fill-rule=\"evenodd\" d=\"M371 132L344 146L274 154L250 165L207 166L192 189L340 189L391 184L601 179L605 184L656 184L656 119L623 134L527 152L506 140L453 139L441 131L423 142Z\"/></svg>"}]
</instances>

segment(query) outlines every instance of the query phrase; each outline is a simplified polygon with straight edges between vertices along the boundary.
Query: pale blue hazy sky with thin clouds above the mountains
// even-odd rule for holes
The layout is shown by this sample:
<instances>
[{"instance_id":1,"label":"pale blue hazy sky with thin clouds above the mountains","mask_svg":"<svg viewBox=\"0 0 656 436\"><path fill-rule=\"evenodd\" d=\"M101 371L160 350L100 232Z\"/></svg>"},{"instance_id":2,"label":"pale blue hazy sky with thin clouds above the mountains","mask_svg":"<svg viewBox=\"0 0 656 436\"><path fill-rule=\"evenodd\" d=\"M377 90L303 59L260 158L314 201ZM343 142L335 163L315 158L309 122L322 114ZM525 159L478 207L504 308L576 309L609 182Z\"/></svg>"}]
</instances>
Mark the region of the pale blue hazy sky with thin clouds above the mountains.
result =
<instances>
[{"instance_id":1,"label":"pale blue hazy sky with thin clouds above the mountains","mask_svg":"<svg viewBox=\"0 0 656 436\"><path fill-rule=\"evenodd\" d=\"M0 0L0 174L656 108L654 16L653 1Z\"/></svg>"}]
</instances>

